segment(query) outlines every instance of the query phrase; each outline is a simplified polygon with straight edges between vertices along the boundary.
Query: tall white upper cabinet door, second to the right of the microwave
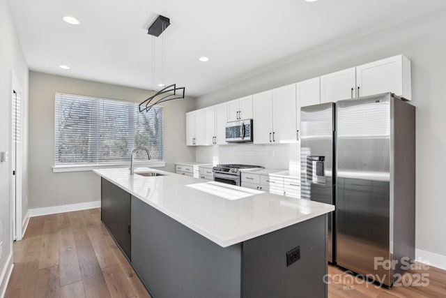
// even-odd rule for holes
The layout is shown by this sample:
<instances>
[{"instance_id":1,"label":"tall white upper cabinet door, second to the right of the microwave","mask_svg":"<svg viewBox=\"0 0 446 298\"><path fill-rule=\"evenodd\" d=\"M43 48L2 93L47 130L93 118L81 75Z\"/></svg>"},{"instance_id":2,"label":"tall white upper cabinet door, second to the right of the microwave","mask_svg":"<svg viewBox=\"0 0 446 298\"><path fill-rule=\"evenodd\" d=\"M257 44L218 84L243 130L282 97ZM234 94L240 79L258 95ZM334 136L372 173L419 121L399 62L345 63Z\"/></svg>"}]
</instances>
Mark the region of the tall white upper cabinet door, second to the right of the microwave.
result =
<instances>
[{"instance_id":1,"label":"tall white upper cabinet door, second to the right of the microwave","mask_svg":"<svg viewBox=\"0 0 446 298\"><path fill-rule=\"evenodd\" d=\"M272 142L297 142L296 112L295 84L272 90Z\"/></svg>"}]
</instances>

